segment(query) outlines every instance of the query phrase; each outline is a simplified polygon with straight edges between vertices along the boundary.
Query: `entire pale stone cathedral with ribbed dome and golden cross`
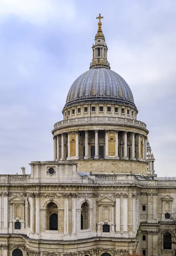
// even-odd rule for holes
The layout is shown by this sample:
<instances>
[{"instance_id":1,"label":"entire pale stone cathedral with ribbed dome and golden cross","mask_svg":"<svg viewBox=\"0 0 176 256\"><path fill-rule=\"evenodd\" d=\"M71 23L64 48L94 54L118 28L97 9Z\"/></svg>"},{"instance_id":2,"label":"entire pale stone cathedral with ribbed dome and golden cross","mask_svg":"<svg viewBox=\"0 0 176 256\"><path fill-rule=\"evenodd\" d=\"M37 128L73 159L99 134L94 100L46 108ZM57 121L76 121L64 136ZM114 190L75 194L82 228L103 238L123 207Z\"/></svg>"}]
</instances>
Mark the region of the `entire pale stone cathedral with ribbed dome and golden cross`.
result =
<instances>
[{"instance_id":1,"label":"entire pale stone cathedral with ribbed dome and golden cross","mask_svg":"<svg viewBox=\"0 0 176 256\"><path fill-rule=\"evenodd\" d=\"M159 241L176 208L176 180L156 177L130 88L106 71L101 18L90 65L99 82L83 76L71 87L52 131L54 160L30 163L30 175L0 175L0 256L173 255Z\"/></svg>"}]
</instances>

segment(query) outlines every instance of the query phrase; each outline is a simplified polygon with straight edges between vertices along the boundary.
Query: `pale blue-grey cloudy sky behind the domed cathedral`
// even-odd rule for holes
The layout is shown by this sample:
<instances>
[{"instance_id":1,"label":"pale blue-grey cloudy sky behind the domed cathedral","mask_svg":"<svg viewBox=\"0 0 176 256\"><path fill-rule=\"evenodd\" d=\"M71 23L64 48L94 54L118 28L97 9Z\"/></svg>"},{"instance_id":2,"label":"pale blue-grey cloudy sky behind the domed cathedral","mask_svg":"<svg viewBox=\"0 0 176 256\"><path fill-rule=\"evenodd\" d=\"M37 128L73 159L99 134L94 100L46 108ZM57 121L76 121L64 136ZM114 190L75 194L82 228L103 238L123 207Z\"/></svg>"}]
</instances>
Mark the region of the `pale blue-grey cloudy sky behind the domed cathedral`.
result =
<instances>
[{"instance_id":1,"label":"pale blue-grey cloudy sky behind the domed cathedral","mask_svg":"<svg viewBox=\"0 0 176 256\"><path fill-rule=\"evenodd\" d=\"M176 0L0 0L0 174L53 159L53 125L89 70L101 13L111 69L147 124L158 176L176 176Z\"/></svg>"}]
</instances>

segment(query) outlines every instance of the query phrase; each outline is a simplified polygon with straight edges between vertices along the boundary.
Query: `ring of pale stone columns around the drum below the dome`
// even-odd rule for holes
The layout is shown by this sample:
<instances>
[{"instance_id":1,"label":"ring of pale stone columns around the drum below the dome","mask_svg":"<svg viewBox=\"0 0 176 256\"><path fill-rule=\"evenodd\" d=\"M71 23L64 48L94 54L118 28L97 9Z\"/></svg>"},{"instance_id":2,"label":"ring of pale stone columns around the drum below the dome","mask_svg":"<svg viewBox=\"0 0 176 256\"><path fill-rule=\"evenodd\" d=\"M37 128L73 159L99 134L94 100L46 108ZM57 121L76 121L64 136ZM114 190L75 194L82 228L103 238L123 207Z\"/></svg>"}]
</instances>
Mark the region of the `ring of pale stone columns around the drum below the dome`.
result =
<instances>
[{"instance_id":1,"label":"ring of pale stone columns around the drum below the dome","mask_svg":"<svg viewBox=\"0 0 176 256\"><path fill-rule=\"evenodd\" d=\"M117 130L69 131L54 136L54 160L147 160L147 137Z\"/></svg>"}]
</instances>

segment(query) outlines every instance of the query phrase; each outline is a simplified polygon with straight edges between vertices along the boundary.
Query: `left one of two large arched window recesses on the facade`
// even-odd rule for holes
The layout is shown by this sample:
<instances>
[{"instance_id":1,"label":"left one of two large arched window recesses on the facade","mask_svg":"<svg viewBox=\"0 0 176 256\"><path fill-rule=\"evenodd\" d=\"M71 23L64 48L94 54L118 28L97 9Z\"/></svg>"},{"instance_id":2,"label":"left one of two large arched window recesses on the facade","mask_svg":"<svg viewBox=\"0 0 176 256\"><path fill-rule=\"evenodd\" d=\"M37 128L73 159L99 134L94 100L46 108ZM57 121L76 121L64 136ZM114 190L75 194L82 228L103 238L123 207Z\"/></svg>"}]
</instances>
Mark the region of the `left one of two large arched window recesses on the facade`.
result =
<instances>
[{"instance_id":1,"label":"left one of two large arched window recesses on the facade","mask_svg":"<svg viewBox=\"0 0 176 256\"><path fill-rule=\"evenodd\" d=\"M46 229L58 230L58 206L53 202L46 206Z\"/></svg>"}]
</instances>

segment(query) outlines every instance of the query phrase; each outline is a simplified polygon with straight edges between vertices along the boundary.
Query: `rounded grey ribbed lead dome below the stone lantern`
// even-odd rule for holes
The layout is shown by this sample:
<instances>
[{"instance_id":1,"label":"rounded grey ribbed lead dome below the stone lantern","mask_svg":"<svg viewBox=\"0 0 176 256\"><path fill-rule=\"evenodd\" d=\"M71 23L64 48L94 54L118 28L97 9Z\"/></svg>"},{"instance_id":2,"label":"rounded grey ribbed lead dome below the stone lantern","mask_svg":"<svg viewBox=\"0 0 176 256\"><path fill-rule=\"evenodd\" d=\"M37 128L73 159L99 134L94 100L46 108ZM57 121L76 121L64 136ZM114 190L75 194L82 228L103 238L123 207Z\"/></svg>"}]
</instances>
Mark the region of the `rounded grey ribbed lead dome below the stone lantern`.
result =
<instances>
[{"instance_id":1,"label":"rounded grey ribbed lead dome below the stone lantern","mask_svg":"<svg viewBox=\"0 0 176 256\"><path fill-rule=\"evenodd\" d=\"M89 102L109 102L136 108L126 81L114 71L103 67L88 70L74 81L65 107Z\"/></svg>"}]
</instances>

